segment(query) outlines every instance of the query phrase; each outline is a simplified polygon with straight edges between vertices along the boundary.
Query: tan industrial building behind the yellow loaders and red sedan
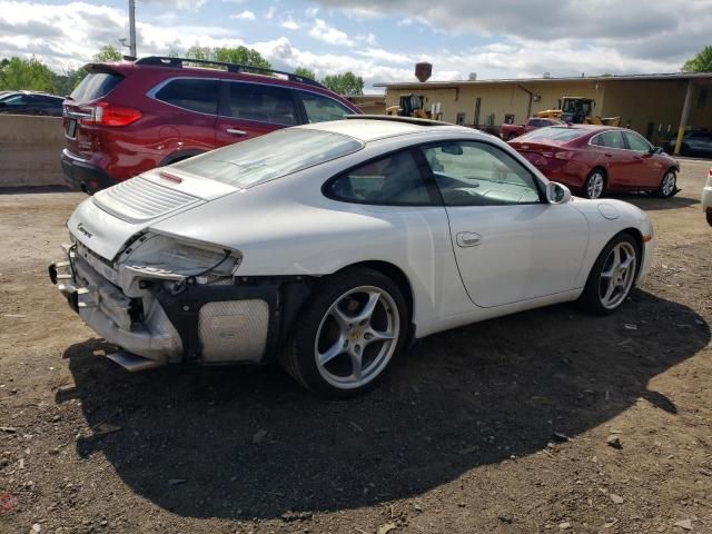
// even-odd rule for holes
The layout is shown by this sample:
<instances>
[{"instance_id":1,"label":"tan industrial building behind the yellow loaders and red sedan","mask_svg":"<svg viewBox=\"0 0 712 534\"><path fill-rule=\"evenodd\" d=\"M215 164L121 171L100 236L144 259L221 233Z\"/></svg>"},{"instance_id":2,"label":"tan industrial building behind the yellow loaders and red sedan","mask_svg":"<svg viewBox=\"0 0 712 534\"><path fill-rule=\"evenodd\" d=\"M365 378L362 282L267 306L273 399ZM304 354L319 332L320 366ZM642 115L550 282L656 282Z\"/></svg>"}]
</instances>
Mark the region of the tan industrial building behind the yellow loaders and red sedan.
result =
<instances>
[{"instance_id":1,"label":"tan industrial building behind the yellow loaders and red sedan","mask_svg":"<svg viewBox=\"0 0 712 534\"><path fill-rule=\"evenodd\" d=\"M498 132L504 122L524 122L563 97L594 100L593 113L621 117L621 126L660 145L685 128L712 129L712 72L595 76L580 78L413 81L378 83L386 107L402 95L422 95L426 107L439 102L442 120Z\"/></svg>"}]
</instances>

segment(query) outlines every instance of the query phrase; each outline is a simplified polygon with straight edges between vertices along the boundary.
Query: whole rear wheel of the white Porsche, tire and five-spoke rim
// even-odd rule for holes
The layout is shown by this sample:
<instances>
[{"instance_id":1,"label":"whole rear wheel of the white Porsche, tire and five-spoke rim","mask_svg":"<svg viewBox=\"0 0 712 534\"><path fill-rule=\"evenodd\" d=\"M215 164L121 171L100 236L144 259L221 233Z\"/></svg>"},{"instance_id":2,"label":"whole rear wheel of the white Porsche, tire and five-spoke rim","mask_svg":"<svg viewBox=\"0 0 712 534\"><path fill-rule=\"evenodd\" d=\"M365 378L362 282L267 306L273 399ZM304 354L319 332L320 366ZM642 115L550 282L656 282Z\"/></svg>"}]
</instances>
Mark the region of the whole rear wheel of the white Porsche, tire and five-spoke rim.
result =
<instances>
[{"instance_id":1,"label":"whole rear wheel of the white Porsche, tire and five-spoke rim","mask_svg":"<svg viewBox=\"0 0 712 534\"><path fill-rule=\"evenodd\" d=\"M365 268L326 278L295 324L283 364L304 386L332 398L375 386L403 350L408 307L398 286Z\"/></svg>"}]
</instances>

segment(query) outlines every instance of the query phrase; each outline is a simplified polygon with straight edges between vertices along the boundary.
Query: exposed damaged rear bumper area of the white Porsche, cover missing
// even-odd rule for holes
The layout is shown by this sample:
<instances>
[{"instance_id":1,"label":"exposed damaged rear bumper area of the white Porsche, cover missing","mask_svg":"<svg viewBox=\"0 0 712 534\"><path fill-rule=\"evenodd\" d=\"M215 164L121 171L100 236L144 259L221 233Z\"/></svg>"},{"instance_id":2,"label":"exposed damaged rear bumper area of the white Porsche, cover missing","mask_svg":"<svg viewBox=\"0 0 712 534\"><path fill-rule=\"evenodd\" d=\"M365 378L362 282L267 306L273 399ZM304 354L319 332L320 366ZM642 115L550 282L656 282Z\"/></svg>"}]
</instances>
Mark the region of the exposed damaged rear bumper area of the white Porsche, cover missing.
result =
<instances>
[{"instance_id":1,"label":"exposed damaged rear bumper area of the white Porsche, cover missing","mask_svg":"<svg viewBox=\"0 0 712 534\"><path fill-rule=\"evenodd\" d=\"M226 364L271 359L306 298L298 280L200 284L146 279L136 296L111 280L112 267L87 249L67 247L49 277L101 337L158 364Z\"/></svg>"}]
</instances>

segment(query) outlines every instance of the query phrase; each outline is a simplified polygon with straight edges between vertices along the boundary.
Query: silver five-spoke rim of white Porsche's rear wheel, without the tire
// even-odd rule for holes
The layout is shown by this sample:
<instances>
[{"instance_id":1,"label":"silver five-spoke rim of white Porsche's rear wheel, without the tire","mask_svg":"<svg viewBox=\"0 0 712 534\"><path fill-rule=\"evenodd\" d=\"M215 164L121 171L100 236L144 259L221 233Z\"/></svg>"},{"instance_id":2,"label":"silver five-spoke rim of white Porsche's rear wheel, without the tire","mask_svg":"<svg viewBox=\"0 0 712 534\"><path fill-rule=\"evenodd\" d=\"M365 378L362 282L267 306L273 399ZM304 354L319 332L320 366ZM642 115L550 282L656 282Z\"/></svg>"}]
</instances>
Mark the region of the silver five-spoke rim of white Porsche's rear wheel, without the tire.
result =
<instances>
[{"instance_id":1,"label":"silver five-spoke rim of white Porsche's rear wheel, without the tire","mask_svg":"<svg viewBox=\"0 0 712 534\"><path fill-rule=\"evenodd\" d=\"M398 307L386 290L349 289L322 318L314 346L317 369L334 387L362 387L386 368L399 334Z\"/></svg>"}]
</instances>

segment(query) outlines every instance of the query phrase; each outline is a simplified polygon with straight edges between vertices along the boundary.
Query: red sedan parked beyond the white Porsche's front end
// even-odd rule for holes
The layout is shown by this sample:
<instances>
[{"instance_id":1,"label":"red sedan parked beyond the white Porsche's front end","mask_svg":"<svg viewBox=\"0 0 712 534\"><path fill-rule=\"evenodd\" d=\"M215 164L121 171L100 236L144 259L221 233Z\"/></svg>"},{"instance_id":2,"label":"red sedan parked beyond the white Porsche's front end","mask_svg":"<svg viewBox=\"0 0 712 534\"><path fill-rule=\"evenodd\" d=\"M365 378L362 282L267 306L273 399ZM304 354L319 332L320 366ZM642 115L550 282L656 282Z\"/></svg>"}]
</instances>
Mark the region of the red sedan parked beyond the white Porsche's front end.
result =
<instances>
[{"instance_id":1,"label":"red sedan parked beyond the white Porsche's front end","mask_svg":"<svg viewBox=\"0 0 712 534\"><path fill-rule=\"evenodd\" d=\"M613 191L678 192L680 165L633 130L563 125L530 131L510 145L547 178L586 198Z\"/></svg>"}]
</instances>

